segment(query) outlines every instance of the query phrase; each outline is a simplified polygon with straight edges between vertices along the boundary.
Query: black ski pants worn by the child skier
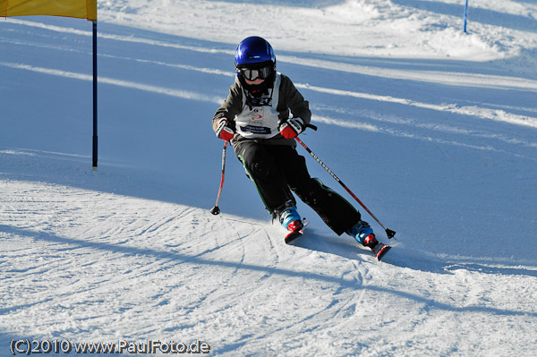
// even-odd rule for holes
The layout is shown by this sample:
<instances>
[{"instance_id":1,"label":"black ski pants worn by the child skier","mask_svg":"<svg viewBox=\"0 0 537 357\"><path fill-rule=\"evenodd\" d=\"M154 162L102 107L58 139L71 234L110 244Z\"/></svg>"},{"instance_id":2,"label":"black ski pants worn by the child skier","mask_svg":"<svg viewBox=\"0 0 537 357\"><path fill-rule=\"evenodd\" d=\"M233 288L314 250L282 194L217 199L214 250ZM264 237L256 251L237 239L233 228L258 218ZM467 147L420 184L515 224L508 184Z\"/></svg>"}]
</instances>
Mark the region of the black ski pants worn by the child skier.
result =
<instances>
[{"instance_id":1,"label":"black ski pants worn by the child skier","mask_svg":"<svg viewBox=\"0 0 537 357\"><path fill-rule=\"evenodd\" d=\"M305 158L293 146L241 141L234 144L234 150L273 217L279 217L289 202L296 204L293 191L337 235L360 220L360 212L353 205L320 180L311 178Z\"/></svg>"}]
</instances>

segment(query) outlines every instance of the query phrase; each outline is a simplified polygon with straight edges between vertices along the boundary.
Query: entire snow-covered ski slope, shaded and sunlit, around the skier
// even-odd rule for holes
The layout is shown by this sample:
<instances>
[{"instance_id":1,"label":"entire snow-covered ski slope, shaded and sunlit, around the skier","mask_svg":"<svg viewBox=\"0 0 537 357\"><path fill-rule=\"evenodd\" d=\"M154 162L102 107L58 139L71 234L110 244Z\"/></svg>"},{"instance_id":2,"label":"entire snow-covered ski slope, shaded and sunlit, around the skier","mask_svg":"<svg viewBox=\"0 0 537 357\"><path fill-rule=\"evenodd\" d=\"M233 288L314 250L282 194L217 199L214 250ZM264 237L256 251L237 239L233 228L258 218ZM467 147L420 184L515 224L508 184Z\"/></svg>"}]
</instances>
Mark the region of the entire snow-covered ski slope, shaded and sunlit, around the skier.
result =
<instances>
[{"instance_id":1,"label":"entire snow-covered ski slope, shaded and sunlit, around the skier","mask_svg":"<svg viewBox=\"0 0 537 357\"><path fill-rule=\"evenodd\" d=\"M91 23L0 19L0 355L19 339L533 355L537 2L472 0L466 34L464 3L99 1L96 172ZM397 232L385 261L303 204L286 245L233 149L209 213L210 119L251 35L310 101L303 141Z\"/></svg>"}]
</instances>

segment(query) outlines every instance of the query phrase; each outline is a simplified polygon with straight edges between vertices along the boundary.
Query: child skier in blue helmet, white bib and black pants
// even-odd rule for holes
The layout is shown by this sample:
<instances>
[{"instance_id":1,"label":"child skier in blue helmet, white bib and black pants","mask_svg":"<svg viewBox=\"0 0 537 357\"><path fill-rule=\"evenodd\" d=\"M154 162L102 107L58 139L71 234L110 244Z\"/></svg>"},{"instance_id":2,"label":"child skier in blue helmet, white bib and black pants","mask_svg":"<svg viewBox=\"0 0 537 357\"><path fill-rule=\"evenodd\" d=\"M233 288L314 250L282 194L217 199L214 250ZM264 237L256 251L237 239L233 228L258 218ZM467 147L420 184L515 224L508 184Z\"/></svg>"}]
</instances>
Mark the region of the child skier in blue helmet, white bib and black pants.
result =
<instances>
[{"instance_id":1,"label":"child skier in blue helmet, white bib and black pants","mask_svg":"<svg viewBox=\"0 0 537 357\"><path fill-rule=\"evenodd\" d=\"M294 138L311 120L309 103L286 75L276 72L276 56L268 41L243 39L234 64L236 78L213 117L213 130L219 139L233 140L235 154L265 208L291 233L301 231L294 191L337 235L353 236L380 259L389 247L377 241L371 226L347 200L311 178L305 158L296 152Z\"/></svg>"}]
</instances>

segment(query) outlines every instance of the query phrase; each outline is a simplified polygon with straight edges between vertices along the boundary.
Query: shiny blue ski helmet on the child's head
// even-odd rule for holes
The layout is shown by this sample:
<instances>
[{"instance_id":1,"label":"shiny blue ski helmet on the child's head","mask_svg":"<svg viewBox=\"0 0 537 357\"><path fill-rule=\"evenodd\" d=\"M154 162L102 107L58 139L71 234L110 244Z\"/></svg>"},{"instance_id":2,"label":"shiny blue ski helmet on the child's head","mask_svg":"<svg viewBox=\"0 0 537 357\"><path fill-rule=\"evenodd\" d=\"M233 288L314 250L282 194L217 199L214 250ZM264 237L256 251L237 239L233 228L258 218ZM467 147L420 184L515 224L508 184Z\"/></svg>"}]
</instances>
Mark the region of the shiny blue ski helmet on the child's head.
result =
<instances>
[{"instance_id":1,"label":"shiny blue ski helmet on the child's head","mask_svg":"<svg viewBox=\"0 0 537 357\"><path fill-rule=\"evenodd\" d=\"M265 38L252 36L244 38L237 46L235 54L235 68L260 68L263 65L272 64L276 71L276 55L272 46ZM240 75L240 73L237 74Z\"/></svg>"}]
</instances>

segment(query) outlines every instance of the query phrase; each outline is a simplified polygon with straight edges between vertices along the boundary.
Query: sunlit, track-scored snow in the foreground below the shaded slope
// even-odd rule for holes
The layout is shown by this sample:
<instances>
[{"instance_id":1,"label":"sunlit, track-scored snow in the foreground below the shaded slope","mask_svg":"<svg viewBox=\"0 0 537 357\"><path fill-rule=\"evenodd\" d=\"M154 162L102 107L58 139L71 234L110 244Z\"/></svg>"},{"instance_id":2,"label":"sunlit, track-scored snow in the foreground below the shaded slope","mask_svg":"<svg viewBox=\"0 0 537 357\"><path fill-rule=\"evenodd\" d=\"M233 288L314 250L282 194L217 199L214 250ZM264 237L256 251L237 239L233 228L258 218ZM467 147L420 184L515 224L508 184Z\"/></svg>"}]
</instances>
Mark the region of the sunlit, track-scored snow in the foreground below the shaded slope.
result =
<instances>
[{"instance_id":1,"label":"sunlit, track-scored snow in the foreground below the shaded slope","mask_svg":"<svg viewBox=\"0 0 537 357\"><path fill-rule=\"evenodd\" d=\"M502 355L537 318L527 267L401 245L377 262L313 227L286 245L277 225L208 209L38 181L0 187L0 301L10 302L0 327L15 336L180 335L220 355L374 356L471 353L479 326Z\"/></svg>"}]
</instances>

